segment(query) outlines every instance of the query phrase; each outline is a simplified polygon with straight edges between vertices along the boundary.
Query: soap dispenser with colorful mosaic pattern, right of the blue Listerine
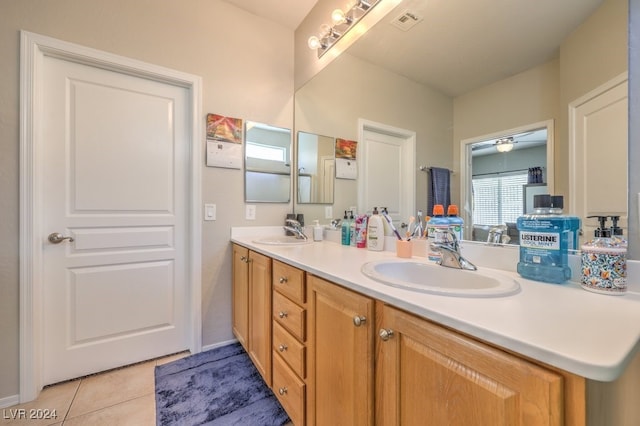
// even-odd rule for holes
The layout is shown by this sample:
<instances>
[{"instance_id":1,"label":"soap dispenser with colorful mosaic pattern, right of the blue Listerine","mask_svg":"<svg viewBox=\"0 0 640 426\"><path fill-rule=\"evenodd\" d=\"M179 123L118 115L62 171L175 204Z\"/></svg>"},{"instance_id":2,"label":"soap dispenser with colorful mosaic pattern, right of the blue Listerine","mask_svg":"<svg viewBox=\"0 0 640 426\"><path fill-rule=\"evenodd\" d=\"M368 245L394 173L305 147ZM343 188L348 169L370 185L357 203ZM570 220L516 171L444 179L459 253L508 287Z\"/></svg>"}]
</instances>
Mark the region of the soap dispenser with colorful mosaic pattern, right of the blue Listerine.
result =
<instances>
[{"instance_id":1,"label":"soap dispenser with colorful mosaic pattern, right of the blue Listerine","mask_svg":"<svg viewBox=\"0 0 640 426\"><path fill-rule=\"evenodd\" d=\"M599 227L594 232L594 239L582 245L580 285L594 293L624 295L627 291L627 246L619 238L611 238L611 229L605 226L607 216L588 217L598 218ZM617 227L617 220L615 222L614 227Z\"/></svg>"}]
</instances>

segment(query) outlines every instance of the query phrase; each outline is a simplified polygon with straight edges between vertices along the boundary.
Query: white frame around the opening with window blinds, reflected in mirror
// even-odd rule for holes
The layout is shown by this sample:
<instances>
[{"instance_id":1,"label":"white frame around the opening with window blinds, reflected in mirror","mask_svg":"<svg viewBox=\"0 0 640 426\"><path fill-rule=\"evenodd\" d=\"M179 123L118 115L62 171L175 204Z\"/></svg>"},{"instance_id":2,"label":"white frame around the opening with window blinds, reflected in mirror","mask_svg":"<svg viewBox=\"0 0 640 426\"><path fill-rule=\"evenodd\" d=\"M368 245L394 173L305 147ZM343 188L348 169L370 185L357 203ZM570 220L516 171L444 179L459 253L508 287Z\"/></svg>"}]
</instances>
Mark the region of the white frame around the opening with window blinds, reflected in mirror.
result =
<instances>
[{"instance_id":1,"label":"white frame around the opening with window blinds, reflected in mirror","mask_svg":"<svg viewBox=\"0 0 640 426\"><path fill-rule=\"evenodd\" d=\"M496 139L505 135L513 135L517 133L529 132L536 129L547 129L547 170L546 177L547 189L549 194L554 194L554 120L539 121L537 123L527 124L512 129L505 129L499 132L490 133L488 135L475 136L460 141L460 216L464 220L464 235L471 235L473 228L473 212L471 211L471 178L472 178L472 158L471 145L488 139ZM561 195L561 194L559 194Z\"/></svg>"}]
</instances>

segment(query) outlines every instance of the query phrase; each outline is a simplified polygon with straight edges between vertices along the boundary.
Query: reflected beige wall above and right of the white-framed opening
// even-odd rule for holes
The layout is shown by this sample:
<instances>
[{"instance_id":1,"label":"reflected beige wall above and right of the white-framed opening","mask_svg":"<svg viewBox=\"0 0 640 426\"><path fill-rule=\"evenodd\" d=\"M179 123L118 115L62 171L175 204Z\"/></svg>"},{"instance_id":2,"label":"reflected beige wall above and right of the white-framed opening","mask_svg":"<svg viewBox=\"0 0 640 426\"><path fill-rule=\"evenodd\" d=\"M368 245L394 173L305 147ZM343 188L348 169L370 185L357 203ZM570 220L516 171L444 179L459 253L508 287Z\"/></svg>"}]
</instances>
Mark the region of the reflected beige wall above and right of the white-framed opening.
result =
<instances>
[{"instance_id":1,"label":"reflected beige wall above and right of the white-framed opening","mask_svg":"<svg viewBox=\"0 0 640 426\"><path fill-rule=\"evenodd\" d=\"M555 192L568 200L568 105L627 71L627 16L626 0L606 0L566 38L558 59L457 97L456 168L461 140L553 119Z\"/></svg>"}]
</instances>

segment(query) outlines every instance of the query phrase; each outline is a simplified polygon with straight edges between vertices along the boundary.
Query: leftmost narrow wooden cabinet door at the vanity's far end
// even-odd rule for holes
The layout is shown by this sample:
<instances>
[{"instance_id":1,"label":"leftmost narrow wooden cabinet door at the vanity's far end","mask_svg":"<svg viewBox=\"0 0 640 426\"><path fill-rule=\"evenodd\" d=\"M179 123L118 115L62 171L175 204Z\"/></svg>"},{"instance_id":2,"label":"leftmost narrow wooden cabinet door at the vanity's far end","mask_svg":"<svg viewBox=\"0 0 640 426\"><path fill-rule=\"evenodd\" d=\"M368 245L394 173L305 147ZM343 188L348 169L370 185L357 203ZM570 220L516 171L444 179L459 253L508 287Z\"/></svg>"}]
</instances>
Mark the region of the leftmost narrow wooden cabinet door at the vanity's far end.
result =
<instances>
[{"instance_id":1,"label":"leftmost narrow wooden cabinet door at the vanity's far end","mask_svg":"<svg viewBox=\"0 0 640 426\"><path fill-rule=\"evenodd\" d=\"M249 249L233 245L232 327L245 350L249 335Z\"/></svg>"}]
</instances>

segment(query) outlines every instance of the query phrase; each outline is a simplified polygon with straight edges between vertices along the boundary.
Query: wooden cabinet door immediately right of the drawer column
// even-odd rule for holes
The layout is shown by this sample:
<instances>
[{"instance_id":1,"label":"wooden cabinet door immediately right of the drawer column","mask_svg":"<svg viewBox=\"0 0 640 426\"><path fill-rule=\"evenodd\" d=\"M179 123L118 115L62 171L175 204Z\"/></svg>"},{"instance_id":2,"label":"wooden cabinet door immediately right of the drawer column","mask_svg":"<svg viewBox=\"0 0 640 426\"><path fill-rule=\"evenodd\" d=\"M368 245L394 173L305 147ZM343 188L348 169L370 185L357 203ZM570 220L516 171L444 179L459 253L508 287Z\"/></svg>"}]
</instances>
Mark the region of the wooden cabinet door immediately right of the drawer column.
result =
<instances>
[{"instance_id":1,"label":"wooden cabinet door immediately right of the drawer column","mask_svg":"<svg viewBox=\"0 0 640 426\"><path fill-rule=\"evenodd\" d=\"M312 275L307 284L307 425L373 425L374 301Z\"/></svg>"}]
</instances>

